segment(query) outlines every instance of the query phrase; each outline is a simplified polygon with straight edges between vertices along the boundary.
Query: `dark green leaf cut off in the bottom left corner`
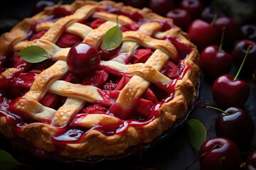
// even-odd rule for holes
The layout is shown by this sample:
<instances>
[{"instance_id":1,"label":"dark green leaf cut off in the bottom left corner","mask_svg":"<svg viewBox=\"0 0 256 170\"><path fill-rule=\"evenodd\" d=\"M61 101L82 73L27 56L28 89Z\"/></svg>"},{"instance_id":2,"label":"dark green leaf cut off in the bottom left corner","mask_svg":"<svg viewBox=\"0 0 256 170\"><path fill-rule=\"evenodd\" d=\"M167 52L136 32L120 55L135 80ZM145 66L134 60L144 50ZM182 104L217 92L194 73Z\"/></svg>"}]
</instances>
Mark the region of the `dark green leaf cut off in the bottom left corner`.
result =
<instances>
[{"instance_id":1,"label":"dark green leaf cut off in the bottom left corner","mask_svg":"<svg viewBox=\"0 0 256 170\"><path fill-rule=\"evenodd\" d=\"M15 166L23 165L20 162L17 162L14 157L0 149L0 169L13 169Z\"/></svg>"}]
</instances>

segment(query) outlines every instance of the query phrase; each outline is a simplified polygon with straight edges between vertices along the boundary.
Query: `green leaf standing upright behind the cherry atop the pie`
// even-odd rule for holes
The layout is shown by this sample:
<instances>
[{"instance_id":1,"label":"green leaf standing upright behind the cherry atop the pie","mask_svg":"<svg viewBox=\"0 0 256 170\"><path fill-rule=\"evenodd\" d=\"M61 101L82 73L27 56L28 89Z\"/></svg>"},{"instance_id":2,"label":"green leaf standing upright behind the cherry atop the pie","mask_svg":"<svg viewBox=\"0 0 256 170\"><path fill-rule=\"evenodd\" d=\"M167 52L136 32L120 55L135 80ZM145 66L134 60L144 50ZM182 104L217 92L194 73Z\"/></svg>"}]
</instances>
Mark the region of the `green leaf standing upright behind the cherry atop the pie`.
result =
<instances>
[{"instance_id":1,"label":"green leaf standing upright behind the cherry atop the pie","mask_svg":"<svg viewBox=\"0 0 256 170\"><path fill-rule=\"evenodd\" d=\"M122 43L122 30L120 30L118 23L117 26L110 28L105 33L102 45L103 49L106 51L111 51L116 49Z\"/></svg>"}]
</instances>

